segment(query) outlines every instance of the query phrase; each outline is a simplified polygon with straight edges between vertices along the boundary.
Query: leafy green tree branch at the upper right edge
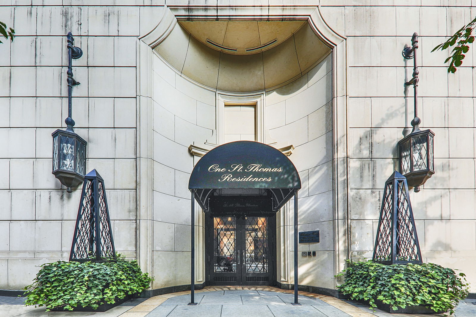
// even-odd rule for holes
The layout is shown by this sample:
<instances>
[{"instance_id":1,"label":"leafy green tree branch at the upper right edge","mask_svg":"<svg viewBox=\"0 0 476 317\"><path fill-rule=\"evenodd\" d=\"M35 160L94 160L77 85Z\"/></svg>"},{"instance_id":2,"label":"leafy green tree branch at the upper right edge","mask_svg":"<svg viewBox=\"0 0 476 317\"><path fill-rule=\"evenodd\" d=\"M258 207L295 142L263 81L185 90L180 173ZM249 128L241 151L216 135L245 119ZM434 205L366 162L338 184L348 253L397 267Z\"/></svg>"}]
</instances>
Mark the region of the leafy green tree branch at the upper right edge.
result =
<instances>
[{"instance_id":1,"label":"leafy green tree branch at the upper right edge","mask_svg":"<svg viewBox=\"0 0 476 317\"><path fill-rule=\"evenodd\" d=\"M471 35L475 27L476 18L456 31L456 33L446 40L446 42L438 44L436 48L432 50L432 52L435 50L446 50L456 45L451 51L451 55L445 60L446 63L451 59L451 62L448 66L448 73L455 73L456 67L461 66L463 63L465 54L469 50L469 46L467 44L473 43L475 40L475 37Z\"/></svg>"}]
</instances>

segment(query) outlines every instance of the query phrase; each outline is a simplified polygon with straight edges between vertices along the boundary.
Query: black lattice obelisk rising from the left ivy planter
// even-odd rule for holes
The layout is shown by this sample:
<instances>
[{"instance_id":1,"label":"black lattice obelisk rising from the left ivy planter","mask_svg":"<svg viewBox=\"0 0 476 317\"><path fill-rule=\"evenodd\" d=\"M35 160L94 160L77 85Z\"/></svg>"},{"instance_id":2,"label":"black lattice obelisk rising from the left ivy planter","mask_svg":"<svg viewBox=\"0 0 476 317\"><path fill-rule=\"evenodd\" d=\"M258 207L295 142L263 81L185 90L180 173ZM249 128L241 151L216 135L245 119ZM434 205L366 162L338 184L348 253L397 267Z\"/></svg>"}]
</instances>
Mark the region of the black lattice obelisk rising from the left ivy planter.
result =
<instances>
[{"instance_id":1,"label":"black lattice obelisk rising from the left ivy planter","mask_svg":"<svg viewBox=\"0 0 476 317\"><path fill-rule=\"evenodd\" d=\"M93 169L84 177L69 260L100 262L114 259L116 250L112 239L106 188L104 180L96 169Z\"/></svg>"}]
</instances>

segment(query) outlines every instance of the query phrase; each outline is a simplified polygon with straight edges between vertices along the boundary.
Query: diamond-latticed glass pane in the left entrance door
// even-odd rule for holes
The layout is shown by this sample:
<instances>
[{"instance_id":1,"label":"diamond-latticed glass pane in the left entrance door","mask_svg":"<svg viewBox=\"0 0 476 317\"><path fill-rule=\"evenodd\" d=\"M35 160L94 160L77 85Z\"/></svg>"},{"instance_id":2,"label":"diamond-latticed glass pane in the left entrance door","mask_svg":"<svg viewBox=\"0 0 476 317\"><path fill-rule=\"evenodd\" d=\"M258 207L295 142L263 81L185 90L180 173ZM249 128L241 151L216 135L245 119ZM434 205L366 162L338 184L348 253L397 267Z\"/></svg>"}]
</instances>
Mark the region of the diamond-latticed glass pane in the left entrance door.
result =
<instances>
[{"instance_id":1,"label":"diamond-latticed glass pane in the left entrance door","mask_svg":"<svg viewBox=\"0 0 476 317\"><path fill-rule=\"evenodd\" d=\"M214 218L215 272L236 272L236 218Z\"/></svg>"}]
</instances>

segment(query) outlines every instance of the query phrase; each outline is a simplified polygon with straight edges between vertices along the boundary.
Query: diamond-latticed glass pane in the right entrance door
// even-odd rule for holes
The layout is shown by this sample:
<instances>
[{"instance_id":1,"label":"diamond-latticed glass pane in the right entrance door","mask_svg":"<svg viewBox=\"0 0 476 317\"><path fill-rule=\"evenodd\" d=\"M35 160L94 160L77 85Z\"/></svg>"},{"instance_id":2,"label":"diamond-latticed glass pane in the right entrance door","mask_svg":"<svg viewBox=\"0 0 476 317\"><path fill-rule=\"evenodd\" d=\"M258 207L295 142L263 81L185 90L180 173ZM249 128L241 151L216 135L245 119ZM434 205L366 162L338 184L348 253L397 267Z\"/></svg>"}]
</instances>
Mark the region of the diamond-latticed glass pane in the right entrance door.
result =
<instances>
[{"instance_id":1,"label":"diamond-latticed glass pane in the right entrance door","mask_svg":"<svg viewBox=\"0 0 476 317\"><path fill-rule=\"evenodd\" d=\"M246 217L246 271L268 272L267 218Z\"/></svg>"}]
</instances>

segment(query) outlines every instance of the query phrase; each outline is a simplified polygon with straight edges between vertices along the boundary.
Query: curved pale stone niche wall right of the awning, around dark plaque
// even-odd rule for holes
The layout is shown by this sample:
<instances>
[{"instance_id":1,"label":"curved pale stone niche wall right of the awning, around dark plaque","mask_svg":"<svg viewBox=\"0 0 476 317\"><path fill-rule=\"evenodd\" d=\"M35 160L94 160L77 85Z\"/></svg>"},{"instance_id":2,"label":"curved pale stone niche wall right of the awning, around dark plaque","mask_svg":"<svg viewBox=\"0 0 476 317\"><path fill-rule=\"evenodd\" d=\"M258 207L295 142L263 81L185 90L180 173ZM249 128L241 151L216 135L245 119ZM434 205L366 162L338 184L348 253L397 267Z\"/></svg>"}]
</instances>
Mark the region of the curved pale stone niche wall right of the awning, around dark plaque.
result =
<instances>
[{"instance_id":1,"label":"curved pale stone niche wall right of the awning, around dark plaque","mask_svg":"<svg viewBox=\"0 0 476 317\"><path fill-rule=\"evenodd\" d=\"M319 243L300 243L299 284L334 288L332 182L332 59L327 56L301 78L266 93L265 143L293 145L289 157L299 172L298 231L319 230ZM278 282L294 283L294 198L278 213Z\"/></svg>"}]
</instances>

